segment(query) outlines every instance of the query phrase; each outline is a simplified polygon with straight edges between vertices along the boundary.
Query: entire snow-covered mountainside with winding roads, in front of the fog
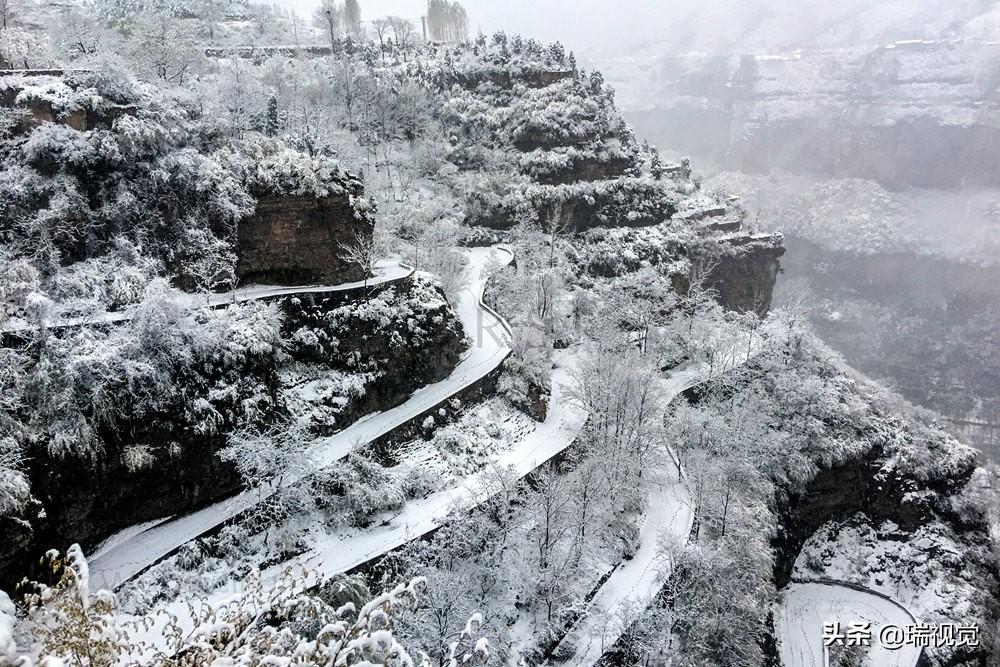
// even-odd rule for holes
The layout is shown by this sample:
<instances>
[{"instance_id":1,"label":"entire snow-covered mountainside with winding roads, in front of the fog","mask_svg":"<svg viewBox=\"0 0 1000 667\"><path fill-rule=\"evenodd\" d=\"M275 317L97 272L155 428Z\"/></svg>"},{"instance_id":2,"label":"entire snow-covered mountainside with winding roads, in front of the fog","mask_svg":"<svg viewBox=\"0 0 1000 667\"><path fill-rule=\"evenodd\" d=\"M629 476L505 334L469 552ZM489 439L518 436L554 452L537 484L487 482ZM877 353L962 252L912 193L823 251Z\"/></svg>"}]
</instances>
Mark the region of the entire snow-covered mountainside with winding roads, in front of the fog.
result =
<instances>
[{"instance_id":1,"label":"entire snow-covered mountainside with winding roads, in front of the fog","mask_svg":"<svg viewBox=\"0 0 1000 667\"><path fill-rule=\"evenodd\" d=\"M58 68L0 75L0 665L763 667L827 608L996 624L995 474L773 307L781 234L604 75L240 6L279 46L199 42L248 28L215 3L4 29Z\"/></svg>"}]
</instances>

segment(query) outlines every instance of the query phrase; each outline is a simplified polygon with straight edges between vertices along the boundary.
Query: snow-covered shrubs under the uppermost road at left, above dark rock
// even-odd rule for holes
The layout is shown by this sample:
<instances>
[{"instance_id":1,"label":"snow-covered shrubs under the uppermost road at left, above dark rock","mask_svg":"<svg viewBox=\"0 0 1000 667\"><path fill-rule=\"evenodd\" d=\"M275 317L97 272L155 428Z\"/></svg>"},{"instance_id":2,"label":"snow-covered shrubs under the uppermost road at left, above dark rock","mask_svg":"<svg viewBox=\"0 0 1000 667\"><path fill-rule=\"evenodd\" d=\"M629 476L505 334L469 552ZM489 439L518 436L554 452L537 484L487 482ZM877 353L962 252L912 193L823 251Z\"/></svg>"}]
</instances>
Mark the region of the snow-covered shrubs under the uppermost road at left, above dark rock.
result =
<instances>
[{"instance_id":1,"label":"snow-covered shrubs under the uppermost road at left, above dark rock","mask_svg":"<svg viewBox=\"0 0 1000 667\"><path fill-rule=\"evenodd\" d=\"M128 322L51 335L25 369L32 409L9 416L49 455L84 458L103 456L121 431L131 438L123 446L139 439L166 447L254 424L275 409L267 385L280 329L273 305L185 312L175 292L153 281ZM166 426L157 421L167 414Z\"/></svg>"}]
</instances>

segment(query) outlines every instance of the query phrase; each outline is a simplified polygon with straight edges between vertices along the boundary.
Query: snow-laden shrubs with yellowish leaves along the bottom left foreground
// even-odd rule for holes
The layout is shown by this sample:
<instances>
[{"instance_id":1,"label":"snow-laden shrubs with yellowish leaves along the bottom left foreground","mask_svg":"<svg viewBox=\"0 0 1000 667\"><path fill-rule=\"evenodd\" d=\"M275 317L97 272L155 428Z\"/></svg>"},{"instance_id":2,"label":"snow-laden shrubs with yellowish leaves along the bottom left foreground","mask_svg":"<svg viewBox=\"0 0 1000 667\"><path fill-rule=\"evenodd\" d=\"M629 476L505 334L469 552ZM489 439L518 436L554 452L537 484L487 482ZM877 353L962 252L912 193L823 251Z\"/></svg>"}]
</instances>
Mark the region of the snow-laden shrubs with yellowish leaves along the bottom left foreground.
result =
<instances>
[{"instance_id":1,"label":"snow-laden shrubs with yellowish leaves along the bottom left foreground","mask_svg":"<svg viewBox=\"0 0 1000 667\"><path fill-rule=\"evenodd\" d=\"M345 585L343 578L288 571L265 583L256 573L223 604L193 602L186 612L192 630L176 615L119 615L111 593L90 590L79 546L70 547L65 557L50 552L48 563L54 585L24 584L23 628L12 627L12 605L0 593L0 664L413 667L394 633L401 616L427 592L424 577L370 596L363 587ZM489 645L478 636L481 625L481 617L467 623L453 649L453 664L485 663ZM24 644L13 645L15 633ZM421 643L417 638L417 648Z\"/></svg>"}]
</instances>

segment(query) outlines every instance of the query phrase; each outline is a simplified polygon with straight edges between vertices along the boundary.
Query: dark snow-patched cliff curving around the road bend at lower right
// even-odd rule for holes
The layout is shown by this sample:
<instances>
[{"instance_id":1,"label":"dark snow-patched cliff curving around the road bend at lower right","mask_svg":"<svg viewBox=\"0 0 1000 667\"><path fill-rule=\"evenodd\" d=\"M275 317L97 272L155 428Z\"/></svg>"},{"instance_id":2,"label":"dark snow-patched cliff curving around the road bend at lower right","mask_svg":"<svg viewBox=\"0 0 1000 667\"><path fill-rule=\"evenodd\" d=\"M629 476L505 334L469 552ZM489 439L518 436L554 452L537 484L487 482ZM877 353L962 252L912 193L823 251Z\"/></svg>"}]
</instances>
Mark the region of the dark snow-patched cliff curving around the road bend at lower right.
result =
<instances>
[{"instance_id":1,"label":"dark snow-patched cliff curving around the road bend at lower right","mask_svg":"<svg viewBox=\"0 0 1000 667\"><path fill-rule=\"evenodd\" d=\"M875 447L821 468L805 489L778 496L775 586L829 579L886 595L924 623L978 626L980 646L932 645L920 664L994 664L1000 572L990 532L985 521L969 521L955 509L963 486L977 483L969 481L974 463L927 483L892 470L888 459Z\"/></svg>"}]
</instances>

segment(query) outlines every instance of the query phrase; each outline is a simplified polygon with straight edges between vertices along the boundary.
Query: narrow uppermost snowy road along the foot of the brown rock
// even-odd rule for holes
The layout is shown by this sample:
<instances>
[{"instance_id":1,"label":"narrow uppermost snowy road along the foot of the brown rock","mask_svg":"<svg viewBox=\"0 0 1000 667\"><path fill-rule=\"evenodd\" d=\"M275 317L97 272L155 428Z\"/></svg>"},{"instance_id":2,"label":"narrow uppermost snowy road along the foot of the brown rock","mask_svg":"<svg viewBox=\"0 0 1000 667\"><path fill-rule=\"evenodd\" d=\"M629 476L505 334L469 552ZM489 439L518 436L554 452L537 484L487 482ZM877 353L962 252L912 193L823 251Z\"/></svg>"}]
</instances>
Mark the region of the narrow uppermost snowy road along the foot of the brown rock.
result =
<instances>
[{"instance_id":1,"label":"narrow uppermost snowy road along the foot of the brown rock","mask_svg":"<svg viewBox=\"0 0 1000 667\"><path fill-rule=\"evenodd\" d=\"M395 260L383 259L375 264L372 277L367 283L364 280L355 280L339 285L298 285L298 286L276 286L276 285L244 285L229 292L189 294L180 293L182 305L187 308L202 308L205 306L224 306L230 303L241 303L244 301L256 301L269 297L282 296L285 294L325 294L329 292L344 292L358 287L375 287L384 283L391 283L411 275L413 268L401 264ZM113 322L125 322L132 319L131 310L116 312L90 313L82 316L60 317L58 312L55 318L46 322L49 327L77 327L93 324L111 324ZM21 318L12 317L0 327L0 331L17 332L33 329L35 325Z\"/></svg>"}]
</instances>

